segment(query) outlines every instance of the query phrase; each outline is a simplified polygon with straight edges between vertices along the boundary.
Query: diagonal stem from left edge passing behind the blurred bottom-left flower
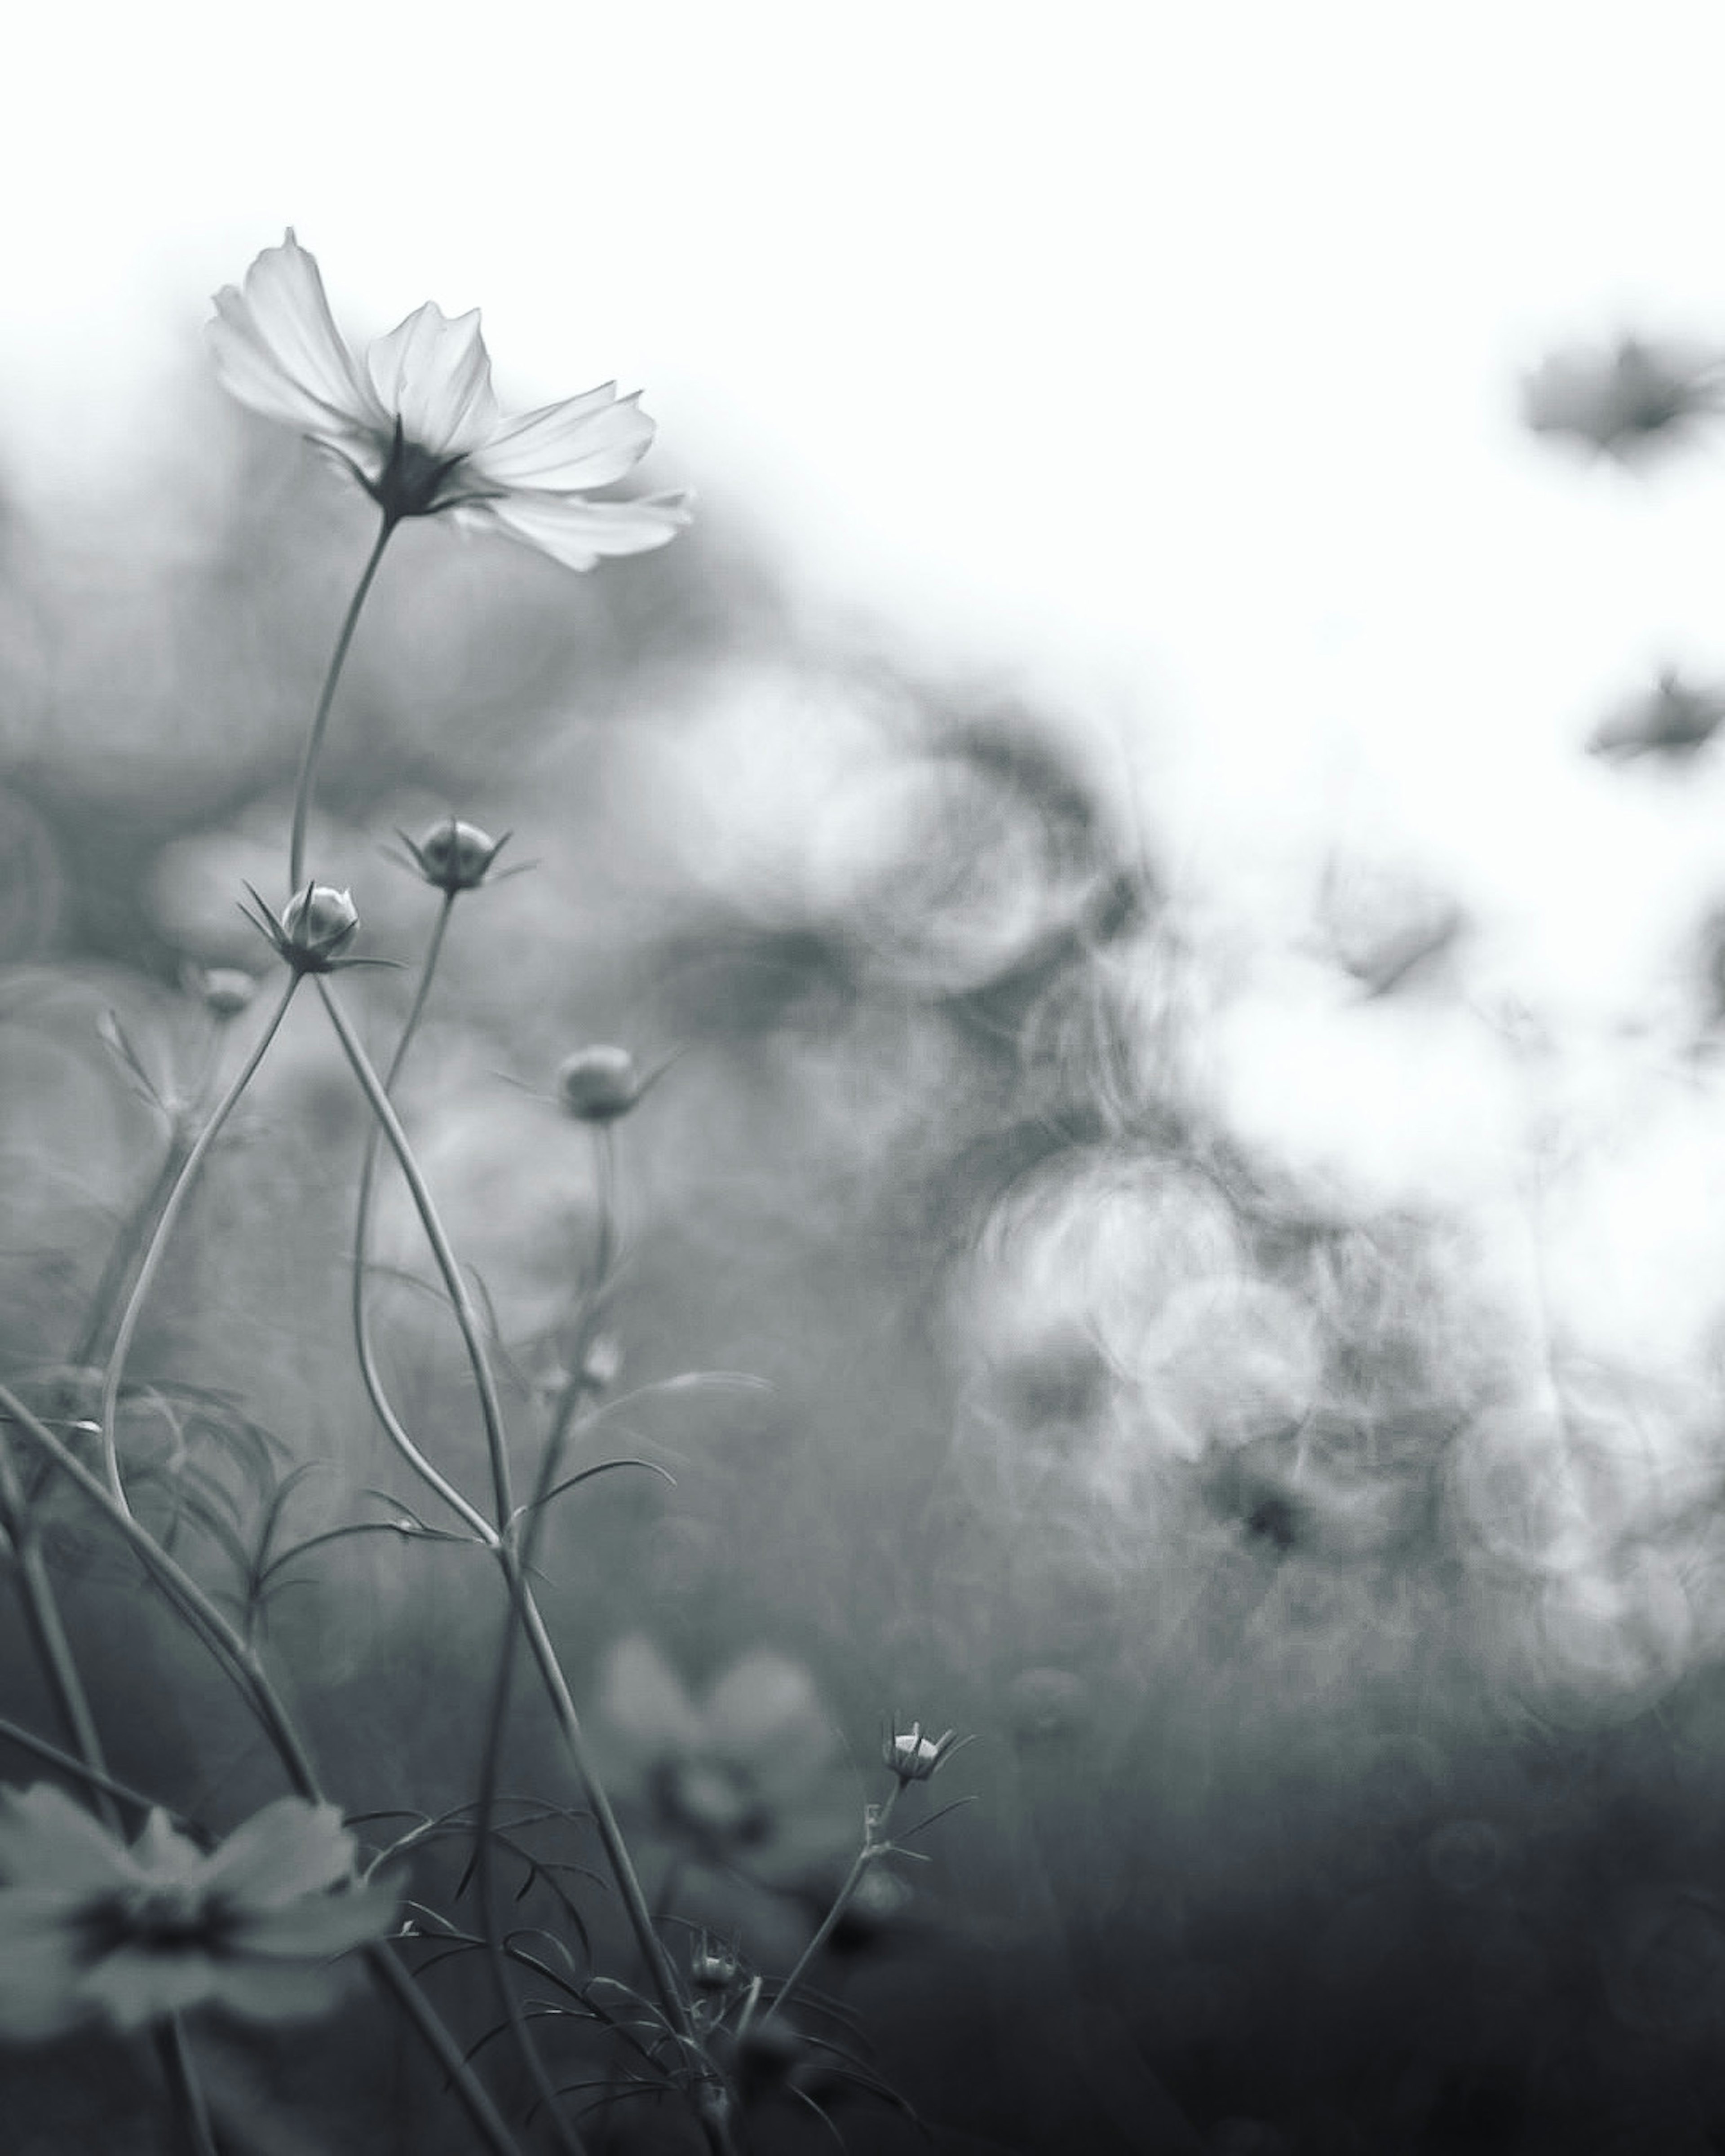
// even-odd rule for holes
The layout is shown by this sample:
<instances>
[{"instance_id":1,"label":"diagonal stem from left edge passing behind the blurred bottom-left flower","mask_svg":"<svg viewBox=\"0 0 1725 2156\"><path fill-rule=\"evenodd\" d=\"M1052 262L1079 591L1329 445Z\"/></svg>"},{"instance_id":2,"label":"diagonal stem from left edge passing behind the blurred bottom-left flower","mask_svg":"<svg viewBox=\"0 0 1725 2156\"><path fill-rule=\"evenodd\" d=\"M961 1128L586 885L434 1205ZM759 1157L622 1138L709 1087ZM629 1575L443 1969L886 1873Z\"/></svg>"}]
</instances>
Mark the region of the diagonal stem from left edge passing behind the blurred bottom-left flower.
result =
<instances>
[{"instance_id":1,"label":"diagonal stem from left edge passing behind the blurred bottom-left flower","mask_svg":"<svg viewBox=\"0 0 1725 2156\"><path fill-rule=\"evenodd\" d=\"M190 1630L203 1639L233 1680L239 1695L246 1699L246 1705L259 1718L259 1725L270 1740L270 1749L280 1759L295 1796L304 1796L308 1805L328 1802L317 1781L317 1770L310 1764L310 1755L300 1738L300 1731L293 1727L293 1718L289 1716L285 1701L270 1682L270 1673L263 1669L257 1654L246 1645L239 1632L235 1632L218 1604L209 1600L203 1587L198 1587L198 1583L179 1563L175 1563L175 1559L168 1557L168 1552L160 1548L142 1526L138 1526L132 1511L125 1503L112 1496L101 1477L93 1475L84 1462L78 1460L78 1455L71 1453L60 1438L56 1438L54 1432L4 1384L0 1384L0 1414L24 1429L24 1434L71 1483L84 1492L97 1511L101 1511L101 1516L114 1526L121 1539L142 1559L144 1570L155 1578ZM412 2020L414 2029L442 2065L492 2156L520 2156L513 2134L498 2117L496 2106L461 2055L459 2044L448 2029L444 2029L436 2009L420 1994L412 1977L408 1977L382 1943L367 1947L364 1955L377 1981Z\"/></svg>"}]
</instances>

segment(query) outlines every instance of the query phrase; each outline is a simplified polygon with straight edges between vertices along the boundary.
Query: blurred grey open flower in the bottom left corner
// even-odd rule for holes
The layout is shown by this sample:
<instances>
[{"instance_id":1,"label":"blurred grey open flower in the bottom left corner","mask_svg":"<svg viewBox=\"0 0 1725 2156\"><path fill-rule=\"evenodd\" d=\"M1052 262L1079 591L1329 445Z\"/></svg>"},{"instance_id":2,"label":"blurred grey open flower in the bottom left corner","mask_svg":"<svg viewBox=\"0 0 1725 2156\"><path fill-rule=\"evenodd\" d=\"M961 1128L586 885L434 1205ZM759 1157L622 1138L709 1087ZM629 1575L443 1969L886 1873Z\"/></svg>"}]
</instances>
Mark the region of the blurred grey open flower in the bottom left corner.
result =
<instances>
[{"instance_id":1,"label":"blurred grey open flower in the bottom left corner","mask_svg":"<svg viewBox=\"0 0 1725 2156\"><path fill-rule=\"evenodd\" d=\"M129 1848L60 1789L9 1789L0 1813L0 2035L106 2018L138 2029L218 2005L274 2022L336 2003L330 1960L395 1921L360 1884L332 1805L285 1796L205 1852L151 1811Z\"/></svg>"}]
</instances>

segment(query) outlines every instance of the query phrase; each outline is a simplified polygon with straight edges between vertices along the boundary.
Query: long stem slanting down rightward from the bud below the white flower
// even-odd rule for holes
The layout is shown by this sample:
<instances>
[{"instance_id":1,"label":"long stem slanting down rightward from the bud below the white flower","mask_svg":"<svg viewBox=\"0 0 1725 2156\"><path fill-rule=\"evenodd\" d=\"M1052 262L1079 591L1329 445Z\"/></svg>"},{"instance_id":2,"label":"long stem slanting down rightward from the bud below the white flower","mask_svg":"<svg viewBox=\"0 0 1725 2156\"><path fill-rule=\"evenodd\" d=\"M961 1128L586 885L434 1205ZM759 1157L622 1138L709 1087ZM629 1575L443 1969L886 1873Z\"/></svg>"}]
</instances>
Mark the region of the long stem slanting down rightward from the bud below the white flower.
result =
<instances>
[{"instance_id":1,"label":"long stem slanting down rightward from the bud below the white flower","mask_svg":"<svg viewBox=\"0 0 1725 2156\"><path fill-rule=\"evenodd\" d=\"M360 1046L358 1035L341 1011L341 1005L330 994L326 981L317 983L323 996L323 1009L330 1013L330 1022L336 1028L336 1037L347 1054L354 1076L360 1080L360 1089L371 1102L371 1110L384 1128L384 1136L395 1151L397 1164L408 1181L414 1197L420 1222L425 1227L427 1240L431 1242L431 1255L438 1261L438 1270L444 1279L444 1289L451 1304L455 1307L457 1324L461 1326L461 1337L468 1345L468 1360L472 1363L474 1384L479 1388L481 1414L485 1419L485 1438L492 1449L492 1475L496 1481L498 1496L498 1524L502 1526L502 1539L496 1548L496 1559L502 1565L502 1576L509 1587L509 1600L522 1623L522 1632L528 1643L528 1651L543 1677L546 1692L552 1703L552 1714L556 1716L558 1731L563 1736L565 1749L569 1751L576 1777L580 1779L586 1800L593 1807L593 1824L597 1826L599 1841L610 1863L612 1878L617 1880L617 1891L623 1897L623 1910L630 1919L630 1930L636 1936L640 1955L647 1964L647 1975L658 1992L660 2005L671 2022L671 2027L686 2040L694 2042L694 2022L688 2009L688 2001L677 1988L677 1977L671 1968L671 1955L664 1951L664 1943L653 1930L653 1912L647 1906L647 1895L640 1887L640 1876L630 1856L627 1843L623 1841L623 1828L617 1822L617 1813L610 1807L610 1798L593 1761L593 1753L586 1744L586 1733L580 1725L576 1712L576 1701L569 1695L569 1682L563 1675L563 1664L556 1658L556 1647L546 1630L546 1619L539 1615L539 1604L533 1600L533 1587L522 1567L520 1550L515 1546L515 1516L513 1496L509 1488L509 1462L502 1445L502 1416L496 1406L496 1384L492 1380L489 1358L485 1354L485 1341L479 1330L479 1319L472 1311L472 1300L461 1279L461 1268L455 1259L455 1250L448 1244L444 1225L438 1216L436 1201L427 1188L425 1175L420 1173L414 1151L408 1145L408 1134L401 1128L401 1119L390 1106L388 1093L384 1091L371 1061Z\"/></svg>"}]
</instances>

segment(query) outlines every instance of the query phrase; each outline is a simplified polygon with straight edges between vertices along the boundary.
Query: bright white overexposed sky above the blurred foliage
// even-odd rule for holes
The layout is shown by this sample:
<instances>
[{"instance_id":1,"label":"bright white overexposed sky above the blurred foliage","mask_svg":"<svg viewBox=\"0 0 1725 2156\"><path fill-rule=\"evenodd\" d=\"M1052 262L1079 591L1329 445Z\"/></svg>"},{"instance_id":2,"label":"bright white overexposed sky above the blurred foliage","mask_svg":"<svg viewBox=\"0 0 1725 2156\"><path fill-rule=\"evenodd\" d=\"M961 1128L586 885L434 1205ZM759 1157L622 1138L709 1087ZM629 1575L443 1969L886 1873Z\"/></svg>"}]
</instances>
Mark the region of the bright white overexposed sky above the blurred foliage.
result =
<instances>
[{"instance_id":1,"label":"bright white overexposed sky above the blurred foliage","mask_svg":"<svg viewBox=\"0 0 1725 2156\"><path fill-rule=\"evenodd\" d=\"M1516 377L1725 338L1721 63L1712 0L32 9L4 444L144 476L293 222L354 332L481 304L507 401L643 386L813 597L1104 709L1225 912L1341 828L1604 1022L1725 893L1716 772L1578 755L1725 675L1725 461L1572 464Z\"/></svg>"}]
</instances>

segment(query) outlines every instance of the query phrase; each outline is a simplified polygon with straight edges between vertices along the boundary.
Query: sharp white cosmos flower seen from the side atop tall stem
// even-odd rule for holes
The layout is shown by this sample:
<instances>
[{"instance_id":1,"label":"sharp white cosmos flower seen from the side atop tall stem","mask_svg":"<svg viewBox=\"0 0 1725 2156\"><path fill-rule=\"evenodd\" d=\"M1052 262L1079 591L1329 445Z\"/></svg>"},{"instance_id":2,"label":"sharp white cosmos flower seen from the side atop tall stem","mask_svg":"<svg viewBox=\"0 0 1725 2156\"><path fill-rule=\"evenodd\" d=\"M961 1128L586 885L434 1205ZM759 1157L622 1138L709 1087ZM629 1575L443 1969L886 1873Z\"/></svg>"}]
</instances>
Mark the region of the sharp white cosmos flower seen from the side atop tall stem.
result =
<instances>
[{"instance_id":1,"label":"sharp white cosmos flower seen from the side atop tall stem","mask_svg":"<svg viewBox=\"0 0 1725 2156\"><path fill-rule=\"evenodd\" d=\"M453 321L427 300L356 358L336 330L317 261L289 231L216 293L209 323L222 386L336 457L390 522L448 513L591 569L606 554L664 545L688 524L686 494L595 502L647 455L653 423L606 382L505 418L479 310Z\"/></svg>"}]
</instances>

